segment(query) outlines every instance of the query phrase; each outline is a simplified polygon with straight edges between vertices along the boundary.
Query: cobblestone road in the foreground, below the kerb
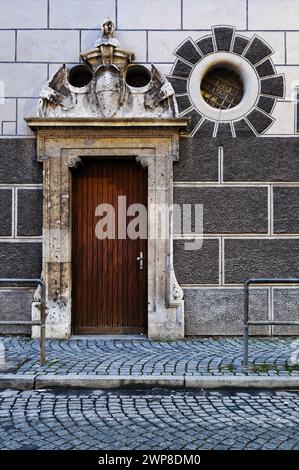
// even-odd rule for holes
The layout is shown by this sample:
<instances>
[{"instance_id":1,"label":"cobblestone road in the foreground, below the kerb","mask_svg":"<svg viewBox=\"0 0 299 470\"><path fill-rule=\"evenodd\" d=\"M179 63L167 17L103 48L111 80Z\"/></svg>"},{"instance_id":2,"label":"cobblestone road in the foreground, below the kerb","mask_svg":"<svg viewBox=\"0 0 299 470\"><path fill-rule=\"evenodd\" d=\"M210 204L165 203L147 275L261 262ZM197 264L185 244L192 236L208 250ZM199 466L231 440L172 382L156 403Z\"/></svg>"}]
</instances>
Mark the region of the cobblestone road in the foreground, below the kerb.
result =
<instances>
[{"instance_id":1,"label":"cobblestone road in the foreground, below the kerb","mask_svg":"<svg viewBox=\"0 0 299 470\"><path fill-rule=\"evenodd\" d=\"M1 449L299 449L299 394L0 393Z\"/></svg>"}]
</instances>

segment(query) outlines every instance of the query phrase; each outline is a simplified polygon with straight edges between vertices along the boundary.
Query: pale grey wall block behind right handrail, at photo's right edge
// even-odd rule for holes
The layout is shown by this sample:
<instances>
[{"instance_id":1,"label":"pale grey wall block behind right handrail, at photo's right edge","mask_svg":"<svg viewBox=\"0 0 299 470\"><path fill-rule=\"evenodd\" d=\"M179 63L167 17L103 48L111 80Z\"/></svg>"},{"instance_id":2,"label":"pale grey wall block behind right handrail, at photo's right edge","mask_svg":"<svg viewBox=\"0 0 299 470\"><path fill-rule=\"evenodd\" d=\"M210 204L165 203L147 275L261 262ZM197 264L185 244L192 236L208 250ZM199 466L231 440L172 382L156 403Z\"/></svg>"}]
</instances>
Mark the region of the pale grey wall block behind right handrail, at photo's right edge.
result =
<instances>
[{"instance_id":1,"label":"pale grey wall block behind right handrail, at photo's right edge","mask_svg":"<svg viewBox=\"0 0 299 470\"><path fill-rule=\"evenodd\" d=\"M273 288L273 316L277 321L299 321L299 285L295 288ZM273 326L275 335L299 335L299 326Z\"/></svg>"}]
</instances>

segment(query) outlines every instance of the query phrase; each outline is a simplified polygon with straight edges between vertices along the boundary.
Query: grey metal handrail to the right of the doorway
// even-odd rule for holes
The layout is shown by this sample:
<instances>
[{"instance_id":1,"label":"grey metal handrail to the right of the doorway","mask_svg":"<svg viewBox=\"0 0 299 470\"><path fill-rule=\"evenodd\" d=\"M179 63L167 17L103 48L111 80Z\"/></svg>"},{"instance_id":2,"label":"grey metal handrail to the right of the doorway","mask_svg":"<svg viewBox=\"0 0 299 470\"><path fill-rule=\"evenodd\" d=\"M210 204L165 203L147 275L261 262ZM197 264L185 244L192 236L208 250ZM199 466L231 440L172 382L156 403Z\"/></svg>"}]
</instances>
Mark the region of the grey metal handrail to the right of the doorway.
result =
<instances>
[{"instance_id":1,"label":"grey metal handrail to the right of the doorway","mask_svg":"<svg viewBox=\"0 0 299 470\"><path fill-rule=\"evenodd\" d=\"M243 321L243 367L248 367L249 325L299 325L299 321L256 320L249 321L249 286L250 284L299 284L299 278L250 278L244 281L244 321Z\"/></svg>"}]
</instances>

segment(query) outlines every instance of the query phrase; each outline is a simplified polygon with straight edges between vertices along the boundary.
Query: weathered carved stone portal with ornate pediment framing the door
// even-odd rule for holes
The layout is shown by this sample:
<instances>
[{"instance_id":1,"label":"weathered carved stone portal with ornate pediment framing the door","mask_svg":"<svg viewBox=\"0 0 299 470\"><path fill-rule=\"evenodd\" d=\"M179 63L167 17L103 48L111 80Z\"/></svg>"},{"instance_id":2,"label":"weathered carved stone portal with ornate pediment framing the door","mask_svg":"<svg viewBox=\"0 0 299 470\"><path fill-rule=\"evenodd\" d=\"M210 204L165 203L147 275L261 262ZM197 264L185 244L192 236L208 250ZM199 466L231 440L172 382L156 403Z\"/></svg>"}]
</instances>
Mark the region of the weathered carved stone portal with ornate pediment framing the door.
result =
<instances>
[{"instance_id":1,"label":"weathered carved stone portal with ornate pediment framing the door","mask_svg":"<svg viewBox=\"0 0 299 470\"><path fill-rule=\"evenodd\" d=\"M72 331L73 171L80 171L85 158L117 156L137 159L147 167L148 207L151 207L148 336L182 338L184 300L173 269L173 223L169 208L179 131L188 121L176 117L172 87L155 67L149 72L138 69L141 66L129 65L132 54L119 48L113 29L113 22L104 22L103 36L96 42L96 48L82 54L84 62L75 70L68 70L65 65L59 69L42 92L40 117L26 119L37 132L38 156L44 169L46 334L68 338ZM137 67L135 75L131 67ZM140 87L146 79L149 82ZM166 237L162 238L166 220ZM38 316L34 308L33 316Z\"/></svg>"}]
</instances>

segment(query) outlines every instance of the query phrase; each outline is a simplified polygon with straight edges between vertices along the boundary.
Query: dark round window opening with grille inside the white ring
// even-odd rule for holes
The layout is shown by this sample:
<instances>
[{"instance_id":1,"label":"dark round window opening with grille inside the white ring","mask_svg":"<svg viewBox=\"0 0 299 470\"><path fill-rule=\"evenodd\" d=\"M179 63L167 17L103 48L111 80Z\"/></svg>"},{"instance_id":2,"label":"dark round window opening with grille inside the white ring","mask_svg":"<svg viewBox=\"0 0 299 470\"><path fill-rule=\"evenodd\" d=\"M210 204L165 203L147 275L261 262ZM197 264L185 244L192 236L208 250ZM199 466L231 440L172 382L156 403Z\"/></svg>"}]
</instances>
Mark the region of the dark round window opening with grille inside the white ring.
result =
<instances>
[{"instance_id":1,"label":"dark round window opening with grille inside the white ring","mask_svg":"<svg viewBox=\"0 0 299 470\"><path fill-rule=\"evenodd\" d=\"M209 70L201 82L202 97L212 108L234 108L242 100L243 92L241 78L227 67Z\"/></svg>"}]
</instances>

